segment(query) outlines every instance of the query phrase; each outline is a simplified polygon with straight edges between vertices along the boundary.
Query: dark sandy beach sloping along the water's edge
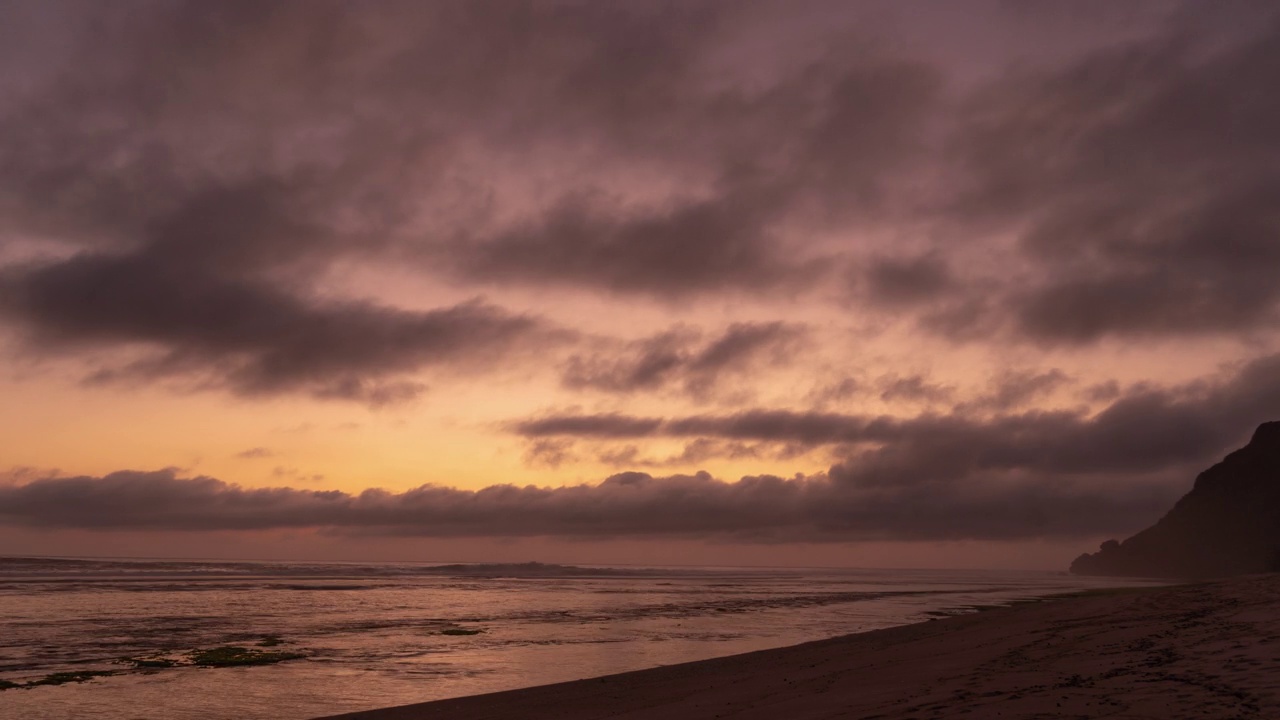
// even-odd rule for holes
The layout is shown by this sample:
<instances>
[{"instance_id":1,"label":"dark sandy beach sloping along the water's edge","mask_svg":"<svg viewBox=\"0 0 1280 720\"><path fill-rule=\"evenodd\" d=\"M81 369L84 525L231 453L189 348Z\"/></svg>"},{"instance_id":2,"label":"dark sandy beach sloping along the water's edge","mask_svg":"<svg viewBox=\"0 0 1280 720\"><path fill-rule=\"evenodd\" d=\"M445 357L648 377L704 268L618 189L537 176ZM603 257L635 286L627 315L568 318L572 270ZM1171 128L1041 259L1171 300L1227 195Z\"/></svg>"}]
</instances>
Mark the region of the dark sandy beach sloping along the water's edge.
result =
<instances>
[{"instance_id":1,"label":"dark sandy beach sloping along the water's edge","mask_svg":"<svg viewBox=\"0 0 1280 720\"><path fill-rule=\"evenodd\" d=\"M349 720L1280 717L1280 575L998 607Z\"/></svg>"}]
</instances>

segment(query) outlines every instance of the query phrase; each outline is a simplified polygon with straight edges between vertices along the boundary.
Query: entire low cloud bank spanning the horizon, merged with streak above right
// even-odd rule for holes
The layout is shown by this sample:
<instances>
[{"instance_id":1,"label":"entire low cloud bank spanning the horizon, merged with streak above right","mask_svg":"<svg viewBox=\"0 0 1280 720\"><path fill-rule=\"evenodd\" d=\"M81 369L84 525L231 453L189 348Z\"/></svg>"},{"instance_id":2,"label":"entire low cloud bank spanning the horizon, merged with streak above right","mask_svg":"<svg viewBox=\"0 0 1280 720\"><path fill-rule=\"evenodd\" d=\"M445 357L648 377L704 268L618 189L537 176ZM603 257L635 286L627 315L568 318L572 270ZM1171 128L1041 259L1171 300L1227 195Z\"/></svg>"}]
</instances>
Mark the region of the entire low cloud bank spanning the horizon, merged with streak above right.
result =
<instances>
[{"instance_id":1,"label":"entire low cloud bank spanning the horizon, merged with streak above right","mask_svg":"<svg viewBox=\"0 0 1280 720\"><path fill-rule=\"evenodd\" d=\"M1014 386L1052 384L1051 372ZM1016 395L1016 393L1014 393ZM1135 386L1100 413L865 418L748 411L677 419L548 416L513 425L540 454L594 439L687 437L684 460L828 443L826 473L723 482L627 471L594 486L404 492L244 488L173 470L19 478L0 523L36 528L426 537L708 538L742 542L1096 537L1148 523L1192 477L1280 414L1280 356L1175 387ZM616 460L643 461L637 448Z\"/></svg>"}]
</instances>

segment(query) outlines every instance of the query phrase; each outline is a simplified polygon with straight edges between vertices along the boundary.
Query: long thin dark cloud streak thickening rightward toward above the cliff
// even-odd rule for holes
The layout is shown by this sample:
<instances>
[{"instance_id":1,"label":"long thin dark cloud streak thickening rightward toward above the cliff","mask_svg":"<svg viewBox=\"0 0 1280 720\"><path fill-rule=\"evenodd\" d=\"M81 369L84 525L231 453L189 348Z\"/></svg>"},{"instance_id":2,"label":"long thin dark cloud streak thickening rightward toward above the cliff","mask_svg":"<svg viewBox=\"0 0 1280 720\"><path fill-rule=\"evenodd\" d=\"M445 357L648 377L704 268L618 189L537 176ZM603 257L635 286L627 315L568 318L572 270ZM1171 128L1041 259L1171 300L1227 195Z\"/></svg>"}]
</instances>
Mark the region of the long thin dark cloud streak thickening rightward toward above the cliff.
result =
<instances>
[{"instance_id":1,"label":"long thin dark cloud streak thickening rightward toward above the cliff","mask_svg":"<svg viewBox=\"0 0 1280 720\"><path fill-rule=\"evenodd\" d=\"M1014 378L1004 401L1042 392L1055 373ZM1160 388L1138 386L1102 411L1027 411L995 416L964 411L915 418L749 410L730 415L636 418L547 416L512 425L527 438L626 439L701 437L849 446L852 466L890 468L893 482L974 471L1043 474L1152 473L1204 462L1280 416L1280 356L1253 360L1228 378ZM858 448L861 450L858 450ZM850 470L854 471L854 470Z\"/></svg>"}]
</instances>

